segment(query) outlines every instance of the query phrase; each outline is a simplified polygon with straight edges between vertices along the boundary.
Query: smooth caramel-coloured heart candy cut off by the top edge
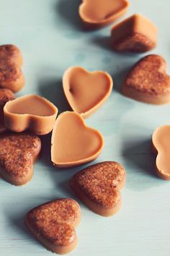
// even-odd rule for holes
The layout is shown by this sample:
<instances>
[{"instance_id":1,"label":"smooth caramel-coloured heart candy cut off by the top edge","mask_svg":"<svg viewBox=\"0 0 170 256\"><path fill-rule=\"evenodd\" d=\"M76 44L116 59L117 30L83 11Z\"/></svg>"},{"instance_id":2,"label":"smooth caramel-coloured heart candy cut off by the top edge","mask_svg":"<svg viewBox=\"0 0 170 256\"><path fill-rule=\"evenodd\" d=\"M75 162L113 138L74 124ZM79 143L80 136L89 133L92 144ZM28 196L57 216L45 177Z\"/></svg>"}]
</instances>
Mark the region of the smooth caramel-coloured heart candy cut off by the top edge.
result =
<instances>
[{"instance_id":1,"label":"smooth caramel-coloured heart candy cut off by the top edge","mask_svg":"<svg viewBox=\"0 0 170 256\"><path fill-rule=\"evenodd\" d=\"M126 0L82 0L79 15L86 27L102 27L125 14L128 7Z\"/></svg>"}]
</instances>

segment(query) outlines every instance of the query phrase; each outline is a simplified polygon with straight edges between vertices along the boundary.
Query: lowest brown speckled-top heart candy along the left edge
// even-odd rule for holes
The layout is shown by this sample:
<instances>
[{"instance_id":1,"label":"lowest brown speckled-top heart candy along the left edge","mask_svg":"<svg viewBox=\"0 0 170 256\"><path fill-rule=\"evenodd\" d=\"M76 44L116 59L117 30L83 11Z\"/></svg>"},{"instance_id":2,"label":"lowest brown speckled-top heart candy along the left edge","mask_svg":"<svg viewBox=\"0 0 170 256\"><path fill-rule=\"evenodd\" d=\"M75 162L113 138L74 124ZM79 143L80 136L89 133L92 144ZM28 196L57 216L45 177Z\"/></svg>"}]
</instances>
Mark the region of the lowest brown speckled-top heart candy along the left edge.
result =
<instances>
[{"instance_id":1,"label":"lowest brown speckled-top heart candy along the left edge","mask_svg":"<svg viewBox=\"0 0 170 256\"><path fill-rule=\"evenodd\" d=\"M0 135L0 174L7 182L23 185L30 181L41 141L28 132Z\"/></svg>"}]
</instances>

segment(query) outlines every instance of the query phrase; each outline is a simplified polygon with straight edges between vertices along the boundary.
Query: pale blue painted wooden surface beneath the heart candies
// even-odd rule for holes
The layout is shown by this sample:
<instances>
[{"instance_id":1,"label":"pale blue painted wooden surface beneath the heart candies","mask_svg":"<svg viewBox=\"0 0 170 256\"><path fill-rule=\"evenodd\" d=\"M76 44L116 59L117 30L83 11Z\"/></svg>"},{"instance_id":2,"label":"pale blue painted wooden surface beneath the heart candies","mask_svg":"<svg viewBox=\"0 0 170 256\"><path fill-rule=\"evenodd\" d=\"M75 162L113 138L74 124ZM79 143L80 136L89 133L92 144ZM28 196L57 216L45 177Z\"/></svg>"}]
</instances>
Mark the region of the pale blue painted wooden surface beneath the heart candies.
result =
<instances>
[{"instance_id":1,"label":"pale blue painted wooden surface beneath the heart candies","mask_svg":"<svg viewBox=\"0 0 170 256\"><path fill-rule=\"evenodd\" d=\"M81 30L76 0L0 0L0 43L14 43L24 56L27 84L19 95L37 93L68 109L61 77L71 65L103 69L112 74L115 88L107 103L87 121L104 135L104 150L97 159L122 163L127 182L122 208L111 218L91 213L81 204L79 245L73 256L169 256L170 182L155 176L150 153L151 134L170 123L170 106L149 106L119 93L127 70L141 55L115 54L107 47L110 27L95 32ZM158 46L153 53L170 67L170 1L131 0L126 17L140 12L158 26ZM170 70L169 70L170 71ZM74 197L70 177L81 167L58 170L50 163L50 136L43 139L40 161L32 181L14 187L0 179L0 255L51 255L27 233L27 210L56 197Z\"/></svg>"}]
</instances>

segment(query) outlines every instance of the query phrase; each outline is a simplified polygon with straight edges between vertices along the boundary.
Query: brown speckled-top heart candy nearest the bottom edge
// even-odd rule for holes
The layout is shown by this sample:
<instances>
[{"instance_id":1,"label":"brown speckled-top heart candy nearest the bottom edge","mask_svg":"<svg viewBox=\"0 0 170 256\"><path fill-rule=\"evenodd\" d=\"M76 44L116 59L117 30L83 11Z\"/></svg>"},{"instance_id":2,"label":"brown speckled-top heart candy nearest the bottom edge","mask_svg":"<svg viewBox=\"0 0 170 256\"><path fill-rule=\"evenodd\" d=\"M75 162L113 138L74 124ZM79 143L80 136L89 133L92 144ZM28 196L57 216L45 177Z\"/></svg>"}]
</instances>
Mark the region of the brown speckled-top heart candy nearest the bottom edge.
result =
<instances>
[{"instance_id":1,"label":"brown speckled-top heart candy nearest the bottom edge","mask_svg":"<svg viewBox=\"0 0 170 256\"><path fill-rule=\"evenodd\" d=\"M75 228L80 218L81 210L75 200L58 199L30 210L26 225L47 249L63 255L76 247Z\"/></svg>"}]
</instances>

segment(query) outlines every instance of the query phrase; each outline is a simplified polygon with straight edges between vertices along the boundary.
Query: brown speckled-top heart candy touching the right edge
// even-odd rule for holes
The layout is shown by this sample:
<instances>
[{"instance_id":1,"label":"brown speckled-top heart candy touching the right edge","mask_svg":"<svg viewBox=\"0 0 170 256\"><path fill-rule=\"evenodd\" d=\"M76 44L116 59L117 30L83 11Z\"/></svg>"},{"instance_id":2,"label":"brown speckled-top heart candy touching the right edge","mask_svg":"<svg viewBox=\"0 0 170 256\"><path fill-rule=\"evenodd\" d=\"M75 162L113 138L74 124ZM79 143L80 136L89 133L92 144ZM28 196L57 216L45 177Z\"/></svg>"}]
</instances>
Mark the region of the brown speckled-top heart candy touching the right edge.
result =
<instances>
[{"instance_id":1,"label":"brown speckled-top heart candy touching the right edge","mask_svg":"<svg viewBox=\"0 0 170 256\"><path fill-rule=\"evenodd\" d=\"M140 59L125 78L122 93L146 103L169 103L170 77L166 74L166 61L153 54Z\"/></svg>"}]
</instances>

